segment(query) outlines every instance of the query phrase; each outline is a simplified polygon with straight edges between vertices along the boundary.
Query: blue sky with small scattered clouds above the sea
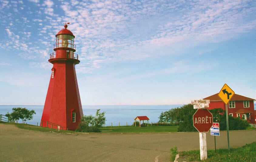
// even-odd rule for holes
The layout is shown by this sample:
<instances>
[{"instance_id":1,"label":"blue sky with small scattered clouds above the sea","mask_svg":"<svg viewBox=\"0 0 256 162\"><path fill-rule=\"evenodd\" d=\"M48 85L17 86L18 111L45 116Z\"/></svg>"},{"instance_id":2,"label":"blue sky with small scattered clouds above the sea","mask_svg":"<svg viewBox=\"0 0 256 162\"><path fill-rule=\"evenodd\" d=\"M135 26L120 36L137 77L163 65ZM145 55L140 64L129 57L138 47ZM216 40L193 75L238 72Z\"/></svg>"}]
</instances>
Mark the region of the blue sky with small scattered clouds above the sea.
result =
<instances>
[{"instance_id":1,"label":"blue sky with small scattered clouds above the sea","mask_svg":"<svg viewBox=\"0 0 256 162\"><path fill-rule=\"evenodd\" d=\"M255 97L255 1L0 0L0 105L44 105L70 22L82 105Z\"/></svg>"}]
</instances>

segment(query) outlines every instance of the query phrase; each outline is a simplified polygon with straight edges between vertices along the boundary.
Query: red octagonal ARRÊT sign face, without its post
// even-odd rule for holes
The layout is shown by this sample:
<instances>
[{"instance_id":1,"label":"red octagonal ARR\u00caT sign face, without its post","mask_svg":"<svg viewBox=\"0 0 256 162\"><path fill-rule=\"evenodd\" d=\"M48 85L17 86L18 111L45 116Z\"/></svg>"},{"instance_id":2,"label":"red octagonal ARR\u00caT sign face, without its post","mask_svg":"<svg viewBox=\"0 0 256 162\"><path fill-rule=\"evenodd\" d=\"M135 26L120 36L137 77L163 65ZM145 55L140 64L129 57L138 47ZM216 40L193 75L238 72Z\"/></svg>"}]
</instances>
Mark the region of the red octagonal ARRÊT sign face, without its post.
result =
<instances>
[{"instance_id":1,"label":"red octagonal ARR\u00caT sign face, without its post","mask_svg":"<svg viewBox=\"0 0 256 162\"><path fill-rule=\"evenodd\" d=\"M207 109L197 109L193 115L193 125L199 132L208 132L213 124L213 117Z\"/></svg>"}]
</instances>

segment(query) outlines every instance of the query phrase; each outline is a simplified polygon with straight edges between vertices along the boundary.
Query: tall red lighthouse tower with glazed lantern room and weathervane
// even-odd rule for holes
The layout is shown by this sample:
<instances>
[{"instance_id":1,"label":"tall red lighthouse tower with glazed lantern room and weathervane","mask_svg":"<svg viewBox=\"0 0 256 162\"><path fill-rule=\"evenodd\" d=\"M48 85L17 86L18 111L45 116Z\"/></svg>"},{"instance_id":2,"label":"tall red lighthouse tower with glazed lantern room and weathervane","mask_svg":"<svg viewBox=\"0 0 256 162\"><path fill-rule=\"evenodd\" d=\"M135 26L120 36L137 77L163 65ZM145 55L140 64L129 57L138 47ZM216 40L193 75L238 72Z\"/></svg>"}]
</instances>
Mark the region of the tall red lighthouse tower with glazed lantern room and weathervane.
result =
<instances>
[{"instance_id":1,"label":"tall red lighthouse tower with glazed lantern room and weathervane","mask_svg":"<svg viewBox=\"0 0 256 162\"><path fill-rule=\"evenodd\" d=\"M75 36L64 25L56 35L55 53L48 60L53 64L45 99L41 126L75 130L83 117L83 110L76 79L75 65L79 64Z\"/></svg>"}]
</instances>

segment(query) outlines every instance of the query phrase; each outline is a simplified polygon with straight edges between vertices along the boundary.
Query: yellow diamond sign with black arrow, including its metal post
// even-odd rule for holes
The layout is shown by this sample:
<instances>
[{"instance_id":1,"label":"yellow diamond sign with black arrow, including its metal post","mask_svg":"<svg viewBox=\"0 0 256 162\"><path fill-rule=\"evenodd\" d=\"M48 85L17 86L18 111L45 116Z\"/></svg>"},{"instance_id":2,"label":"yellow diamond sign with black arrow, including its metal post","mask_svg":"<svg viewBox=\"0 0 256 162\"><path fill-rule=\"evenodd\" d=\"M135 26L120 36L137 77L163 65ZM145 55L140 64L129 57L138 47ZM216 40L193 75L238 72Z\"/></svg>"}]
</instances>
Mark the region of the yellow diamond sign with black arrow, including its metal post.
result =
<instances>
[{"instance_id":1,"label":"yellow diamond sign with black arrow, including its metal post","mask_svg":"<svg viewBox=\"0 0 256 162\"><path fill-rule=\"evenodd\" d=\"M227 112L227 103L232 98L232 96L235 94L235 92L228 87L227 84L224 84L224 86L221 88L221 91L219 92L218 96L221 98L221 100L226 104L226 118L227 118L227 145L228 150L230 150L229 147L229 132L228 132L228 112Z\"/></svg>"}]
</instances>

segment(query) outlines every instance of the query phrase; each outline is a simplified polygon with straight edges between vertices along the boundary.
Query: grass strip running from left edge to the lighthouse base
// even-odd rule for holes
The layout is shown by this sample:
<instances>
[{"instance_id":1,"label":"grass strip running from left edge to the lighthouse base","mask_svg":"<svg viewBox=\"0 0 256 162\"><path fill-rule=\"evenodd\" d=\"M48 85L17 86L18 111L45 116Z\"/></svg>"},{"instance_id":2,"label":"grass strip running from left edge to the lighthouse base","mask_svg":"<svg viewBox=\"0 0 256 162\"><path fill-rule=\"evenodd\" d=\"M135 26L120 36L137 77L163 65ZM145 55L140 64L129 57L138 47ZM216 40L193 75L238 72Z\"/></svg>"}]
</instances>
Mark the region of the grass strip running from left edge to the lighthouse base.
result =
<instances>
[{"instance_id":1,"label":"grass strip running from left edge to the lighthouse base","mask_svg":"<svg viewBox=\"0 0 256 162\"><path fill-rule=\"evenodd\" d=\"M12 125L15 125L18 128L32 130L32 131L42 131L42 132L50 132L50 131L52 131L52 132L56 132L56 133L74 133L74 131L67 131L67 130L59 130L58 131L58 129L52 129L52 128L47 128L47 127L40 127L40 126L36 126L36 125L31 125L31 124L3 122L3 121L0 121L0 123L12 124Z\"/></svg>"}]
</instances>

